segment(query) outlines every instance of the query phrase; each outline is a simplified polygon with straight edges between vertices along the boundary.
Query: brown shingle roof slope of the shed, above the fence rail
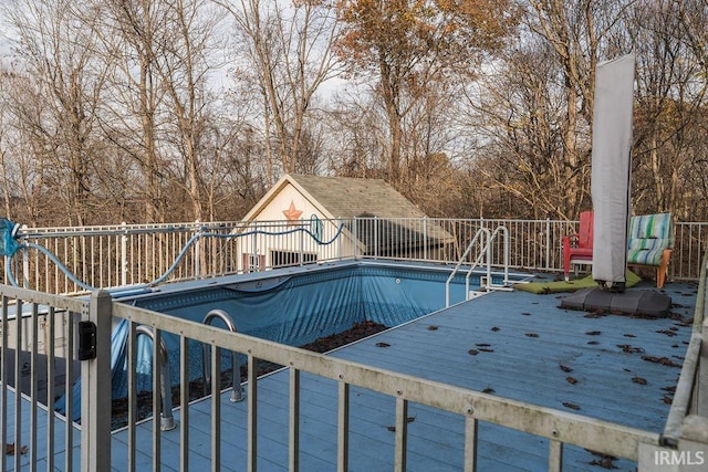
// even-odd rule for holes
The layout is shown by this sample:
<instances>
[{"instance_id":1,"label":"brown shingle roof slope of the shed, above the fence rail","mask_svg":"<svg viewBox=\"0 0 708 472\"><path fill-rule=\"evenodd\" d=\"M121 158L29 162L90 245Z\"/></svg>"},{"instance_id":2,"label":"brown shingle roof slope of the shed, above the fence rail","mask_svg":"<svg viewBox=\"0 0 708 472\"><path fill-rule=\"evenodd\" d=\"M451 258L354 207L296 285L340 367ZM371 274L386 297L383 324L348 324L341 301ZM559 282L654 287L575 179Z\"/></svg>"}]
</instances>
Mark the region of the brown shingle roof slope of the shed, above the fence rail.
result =
<instances>
[{"instance_id":1,"label":"brown shingle roof slope of the shed, above the fence rail","mask_svg":"<svg viewBox=\"0 0 708 472\"><path fill-rule=\"evenodd\" d=\"M403 195L382 179L290 176L335 218L424 218Z\"/></svg>"}]
</instances>

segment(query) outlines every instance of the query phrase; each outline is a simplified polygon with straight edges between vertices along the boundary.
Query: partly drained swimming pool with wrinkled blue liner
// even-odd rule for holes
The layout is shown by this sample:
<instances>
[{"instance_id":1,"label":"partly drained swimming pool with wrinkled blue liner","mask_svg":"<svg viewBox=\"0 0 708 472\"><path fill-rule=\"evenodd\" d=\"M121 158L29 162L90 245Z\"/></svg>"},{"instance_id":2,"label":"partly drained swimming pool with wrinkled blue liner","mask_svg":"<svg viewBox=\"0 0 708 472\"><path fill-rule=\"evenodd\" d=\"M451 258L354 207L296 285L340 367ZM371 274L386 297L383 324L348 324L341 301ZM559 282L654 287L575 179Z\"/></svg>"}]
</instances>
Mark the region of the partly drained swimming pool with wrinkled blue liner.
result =
<instances>
[{"instance_id":1,"label":"partly drained swimming pool with wrinkled blue liner","mask_svg":"<svg viewBox=\"0 0 708 472\"><path fill-rule=\"evenodd\" d=\"M152 291L116 294L123 303L201 323L212 310L226 312L239 333L302 346L341 333L364 321L397 326L445 307L448 265L340 261L267 272L181 282ZM465 276L451 281L452 303L465 300ZM472 273L470 284L479 285ZM500 275L501 277L501 275ZM125 345L127 329L113 336L113 395L126 395ZM179 344L165 335L173 384L179 384ZM152 390L152 342L138 338L138 391ZM190 380L202 377L201 345L189 346ZM230 356L222 353L222 367Z\"/></svg>"}]
</instances>

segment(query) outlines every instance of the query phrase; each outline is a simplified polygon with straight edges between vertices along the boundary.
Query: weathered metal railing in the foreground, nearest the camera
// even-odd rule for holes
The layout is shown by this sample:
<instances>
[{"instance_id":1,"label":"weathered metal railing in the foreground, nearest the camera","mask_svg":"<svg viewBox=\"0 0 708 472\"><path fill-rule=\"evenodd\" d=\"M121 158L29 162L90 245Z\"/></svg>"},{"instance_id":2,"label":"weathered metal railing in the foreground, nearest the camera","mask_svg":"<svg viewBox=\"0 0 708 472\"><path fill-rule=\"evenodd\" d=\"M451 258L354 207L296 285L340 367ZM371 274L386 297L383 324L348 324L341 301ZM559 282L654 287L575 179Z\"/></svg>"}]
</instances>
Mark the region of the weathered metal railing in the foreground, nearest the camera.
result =
<instances>
[{"instance_id":1,"label":"weathered metal railing in the foreground, nearest the camera","mask_svg":"<svg viewBox=\"0 0 708 472\"><path fill-rule=\"evenodd\" d=\"M705 284L702 285L705 287ZM323 356L320 354L302 350L294 347L279 345L272 342L253 338L227 329L211 327L189 321L178 319L171 316L158 314L143 308L128 306L112 302L107 293L100 291L94 292L90 300L66 298L56 295L49 295L40 292L28 291L23 289L0 286L0 295L2 296L2 326L7 327L12 324L13 316L9 314L24 313L31 328L24 334L23 324L15 323L13 327L15 346L29 345L27 352L30 356L30 367L32 381L30 392L27 397L22 397L12 389L7 379L9 369L14 369L18 375L21 373L20 356L15 357L13 364L10 363L8 352L11 349L11 343L8 338L8 329L2 331L2 346L0 356L2 359L2 390L0 391L0 433L6 444L14 443L18 448L28 447L28 453L22 455L15 453L14 457L2 454L2 470L23 468L35 470L40 464L46 464L48 470L74 470L75 465L81 465L82 471L111 470L112 466L112 441L111 441L111 423L110 416L106 411L111 410L111 369L110 369L110 337L111 337L111 319L117 317L129 321L128 336L128 426L127 426L127 470L136 470L136 449L138 436L136 432L136 392L135 392L135 370L136 370L136 337L138 326L150 326L155 336L153 358L159 358L158 345L160 336L171 333L179 337L180 346L180 376L189 377L189 367L187 359L187 346L190 342L205 343L212 349L212 363L218 363L219 355L217 349L225 348L232 352L242 353L248 357L248 459L247 470L256 471L258 468L258 438L259 438L259 419L258 419L258 386L254 368L258 359L267 360L278 365L289 366L290 369L290 424L289 432L289 470L298 471L299 464L299 398L300 398L300 376L302 373L309 373L326 379L334 380L339 384L339 412L337 412L337 470L348 470L348 408L350 408L350 389L353 386L363 387L395 399L395 417L396 417L396 440L395 440L395 470L406 470L407 459L407 408L409 402L426 405L431 408L448 411L460 416L465 419L465 470L475 471L477 463L477 443L478 443L478 422L488 421L496 424L508 427L512 430L523 431L545 438L550 441L549 470L562 470L562 457L564 444L575 444L604 454L612 454L618 458L626 458L637 461L639 470L660 470L656 469L656 458L658 453L673 451L677 453L681 451L683 442L680 436L677 443L671 444L668 449L663 444L663 438L657 433L652 433L638 429L617 426L607 421L590 419L580 415L568 413L549 408L540 408L530 403L508 400L501 397L488 396L473 390L458 388L440 382L424 380L407 375L400 375L379 368L368 367L362 364L352 363L344 359ZM696 312L697 326L702 318L705 303L705 290L699 294L701 298L698 303L699 308ZM27 310L23 310L27 308ZM38 343L38 325L40 322L49 324L50 329L59 323L59 316L69 314L69 318L61 318L62 323L77 325L82 323L77 329L77 336L70 335L67 339L66 352L79 352L79 355L72 355L74 360L81 360L81 388L82 388L82 407L81 407L81 441L75 440L75 431L71 422L62 421L58 415L53 412L53 398L55 395L65 394L69 396L67 406L71 417L71 396L72 390L65 387L62 391L55 390L52 385L53 371L48 371L46 377L40 378L35 371L39 364ZM95 327L95 331L91 328ZM69 329L73 333L73 329ZM705 328L702 332L705 336ZM695 331L694 336L701 336L700 328ZM29 339L29 344L23 339ZM54 339L49 337L45 346L46 355L52 365ZM700 346L700 339L697 342ZM691 343L695 344L695 343ZM696 349L694 349L696 350ZM695 361L688 360L684 368L681 377L688 376L689 386L687 397L677 398L677 408L679 411L671 411L671 418L678 418L681 421L687 415L698 411L698 406L705 407L705 392L702 394L702 402L698 399L698 389L695 387L699 384L698 376L705 375L705 366L699 366L700 352L696 350ZM72 377L70 366L74 363L66 363L66 376ZM160 363L154 363L154 385L153 391L159 391L159 369ZM205 436L199 433L199 441L205 438L211 441L211 470L220 470L221 468L221 437L228 434L222 430L219 401L219 381L218 376L220 369L217 364L212 364L212 401L211 401L211 431ZM50 386L49 407L42 408L37 400L37 386L40 381L45 381ZM683 379L681 379L683 381ZM179 463L183 470L186 470L189 463L189 443L192 440L195 431L190 428L189 420L189 391L188 381L180 382L180 418L179 418ZM66 385L71 385L67 382ZM686 389L684 384L679 382L679 389ZM683 391L683 390L681 390ZM677 391L678 395L684 395ZM153 415L154 418L160 413L159 396L153 396ZM29 418L28 418L29 417ZM25 430L27 429L27 430ZM40 437L42 432L42 437ZM27 443L23 438L28 438ZM160 422L153 422L152 438L142 438L139 441L152 441L152 465L153 470L159 470L162 463L163 432L160 431ZM704 444L705 447L706 444ZM683 457L683 455L681 455ZM62 463L55 462L55 458L63 458ZM79 461L79 458L81 459ZM13 463L8 463L13 461ZM27 461L23 462L23 461Z\"/></svg>"}]
</instances>

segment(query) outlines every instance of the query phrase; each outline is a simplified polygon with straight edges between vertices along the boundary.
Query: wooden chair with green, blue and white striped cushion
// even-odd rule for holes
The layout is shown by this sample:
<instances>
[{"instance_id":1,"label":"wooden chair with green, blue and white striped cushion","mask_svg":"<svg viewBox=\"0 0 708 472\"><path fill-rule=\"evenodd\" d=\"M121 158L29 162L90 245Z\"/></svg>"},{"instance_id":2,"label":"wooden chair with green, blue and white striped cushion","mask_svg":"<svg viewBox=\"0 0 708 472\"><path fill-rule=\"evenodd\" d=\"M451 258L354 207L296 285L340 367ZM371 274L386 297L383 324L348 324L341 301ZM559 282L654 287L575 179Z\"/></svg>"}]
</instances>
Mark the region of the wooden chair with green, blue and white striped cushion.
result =
<instances>
[{"instance_id":1,"label":"wooden chair with green, blue and white striped cushion","mask_svg":"<svg viewBox=\"0 0 708 472\"><path fill-rule=\"evenodd\" d=\"M671 213L632 217L629 222L628 265L650 265L656 269L656 286L666 281L668 261L674 249Z\"/></svg>"}]
</instances>

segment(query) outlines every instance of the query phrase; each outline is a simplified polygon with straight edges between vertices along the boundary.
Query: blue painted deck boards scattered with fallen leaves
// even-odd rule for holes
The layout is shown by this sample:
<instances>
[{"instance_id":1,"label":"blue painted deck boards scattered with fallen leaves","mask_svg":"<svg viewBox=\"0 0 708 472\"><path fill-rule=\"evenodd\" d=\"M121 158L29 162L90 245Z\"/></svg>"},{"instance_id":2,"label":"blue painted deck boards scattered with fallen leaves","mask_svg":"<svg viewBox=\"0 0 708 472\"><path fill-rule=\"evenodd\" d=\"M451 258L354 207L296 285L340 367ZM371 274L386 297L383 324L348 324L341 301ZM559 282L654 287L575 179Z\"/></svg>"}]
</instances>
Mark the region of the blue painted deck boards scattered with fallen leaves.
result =
<instances>
[{"instance_id":1,"label":"blue painted deck boards scattered with fallen leaves","mask_svg":"<svg viewBox=\"0 0 708 472\"><path fill-rule=\"evenodd\" d=\"M666 292L678 304L673 312L690 318L695 285L673 283ZM676 385L680 369L642 356L667 357L681 364L690 326L671 318L585 317L584 312L558 308L559 303L556 295L492 293L331 355L476 390L493 388L494 395L560 410L569 410L563 402L575 403L579 413L662 432L669 410L663 388ZM391 346L377 347L379 342ZM479 350L477 344L489 344L482 347L493 352L468 354L469 349ZM642 352L624 353L618 345ZM564 373L560 365L572 371ZM566 380L571 376L576 384ZM633 377L644 378L647 384L634 382ZM259 471L287 470L288 385L287 371L259 380ZM335 470L336 395L336 382L302 375L303 471ZM246 402L230 403L228 394L221 397L221 470L246 468ZM395 433L387 427L395 422L395 400L352 387L350 411L350 470L392 470ZM408 416L415 418L408 424L408 470L461 470L464 419L420 405L410 405ZM175 418L180 420L179 410ZM191 470L210 465L210 400L189 407ZM138 470L150 463L152 428L150 421L138 427ZM126 438L125 431L114 434L116 470L122 470L121 460L126 457ZM163 470L178 470L179 430L164 433L162 440ZM548 448L544 439L480 423L479 470L548 470ZM597 459L580 448L566 447L564 470L596 471L590 462ZM624 460L614 461L614 465L620 470L636 468Z\"/></svg>"}]
</instances>

